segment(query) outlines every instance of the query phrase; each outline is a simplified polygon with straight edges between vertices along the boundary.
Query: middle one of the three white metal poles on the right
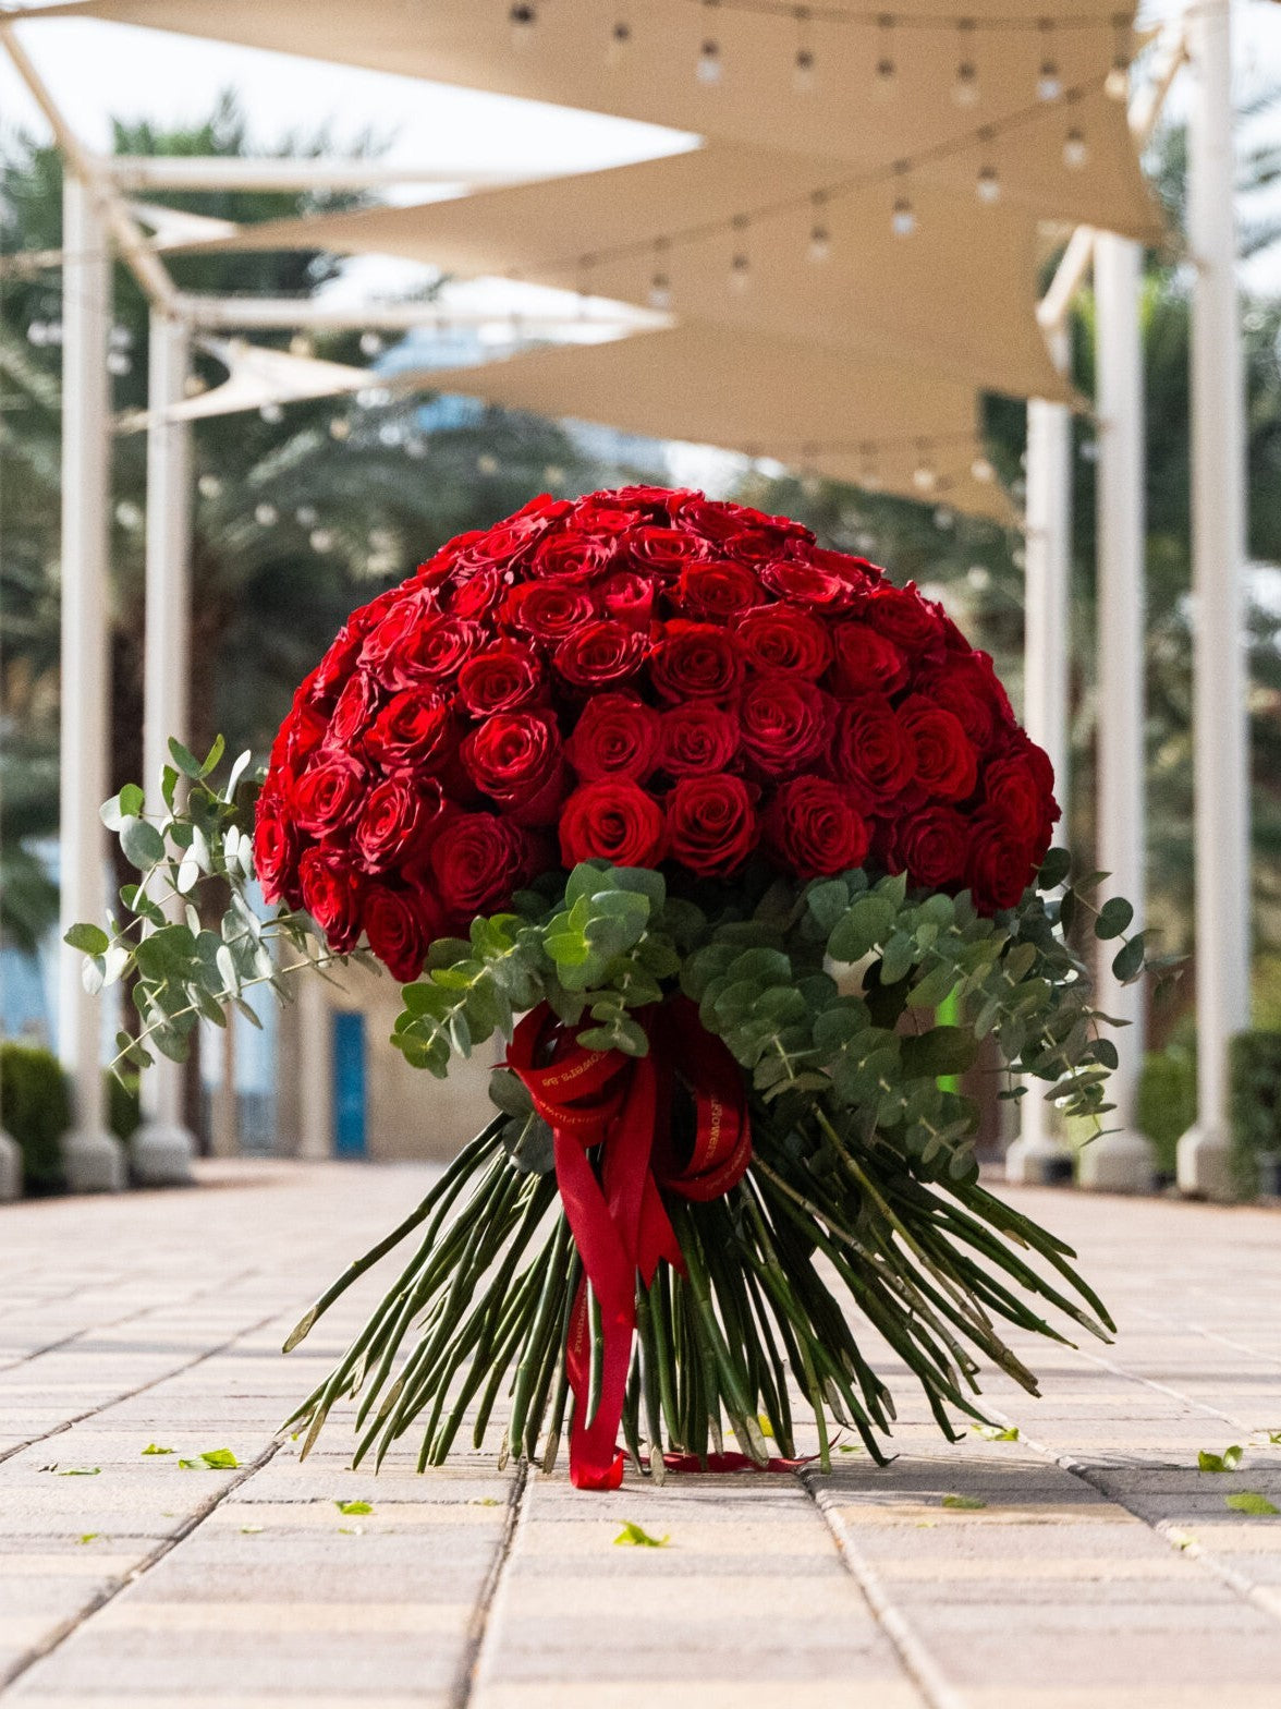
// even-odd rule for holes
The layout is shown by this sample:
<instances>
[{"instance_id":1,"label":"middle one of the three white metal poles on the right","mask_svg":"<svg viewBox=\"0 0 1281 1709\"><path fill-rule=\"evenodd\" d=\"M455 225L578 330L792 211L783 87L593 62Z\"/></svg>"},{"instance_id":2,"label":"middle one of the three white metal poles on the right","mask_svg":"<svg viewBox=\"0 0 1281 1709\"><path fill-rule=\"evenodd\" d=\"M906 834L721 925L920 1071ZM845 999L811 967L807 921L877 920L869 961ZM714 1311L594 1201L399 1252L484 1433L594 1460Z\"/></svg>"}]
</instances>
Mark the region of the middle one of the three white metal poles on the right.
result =
<instances>
[{"instance_id":1,"label":"middle one of the three white metal poles on the right","mask_svg":"<svg viewBox=\"0 0 1281 1709\"><path fill-rule=\"evenodd\" d=\"M1098 865L1112 877L1102 896L1134 904L1132 931L1144 911L1144 407L1136 243L1095 238L1095 410L1098 417L1098 588L1097 754ZM1114 1130L1081 1152L1081 1186L1146 1193L1155 1150L1136 1128L1143 1070L1143 986L1112 976L1112 952L1100 945L1098 1007L1127 1020L1115 1046L1120 1063L1108 1084Z\"/></svg>"}]
</instances>

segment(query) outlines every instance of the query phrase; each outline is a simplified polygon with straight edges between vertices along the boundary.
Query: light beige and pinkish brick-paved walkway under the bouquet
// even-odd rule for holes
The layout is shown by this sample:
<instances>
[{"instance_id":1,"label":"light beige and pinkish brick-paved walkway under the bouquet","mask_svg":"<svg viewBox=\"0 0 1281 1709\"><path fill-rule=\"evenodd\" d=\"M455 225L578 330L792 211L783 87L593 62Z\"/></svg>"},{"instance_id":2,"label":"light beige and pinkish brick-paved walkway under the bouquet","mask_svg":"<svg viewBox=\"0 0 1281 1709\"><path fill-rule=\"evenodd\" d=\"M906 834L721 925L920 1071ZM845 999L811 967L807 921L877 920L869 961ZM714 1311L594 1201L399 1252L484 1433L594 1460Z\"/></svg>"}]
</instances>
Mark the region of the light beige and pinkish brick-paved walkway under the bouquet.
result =
<instances>
[{"instance_id":1,"label":"light beige and pinkish brick-paved walkway under the bouquet","mask_svg":"<svg viewBox=\"0 0 1281 1709\"><path fill-rule=\"evenodd\" d=\"M950 1448L904 1386L885 1471L601 1497L461 1454L374 1478L342 1420L299 1465L272 1432L371 1294L289 1360L280 1340L425 1179L224 1166L0 1208L5 1706L1281 1704L1281 1516L1225 1501L1281 1507L1276 1213L1018 1195L1122 1333L1035 1348L1042 1401L992 1381L1016 1441ZM1233 1442L1242 1470L1196 1470ZM613 1547L623 1519L668 1547Z\"/></svg>"}]
</instances>

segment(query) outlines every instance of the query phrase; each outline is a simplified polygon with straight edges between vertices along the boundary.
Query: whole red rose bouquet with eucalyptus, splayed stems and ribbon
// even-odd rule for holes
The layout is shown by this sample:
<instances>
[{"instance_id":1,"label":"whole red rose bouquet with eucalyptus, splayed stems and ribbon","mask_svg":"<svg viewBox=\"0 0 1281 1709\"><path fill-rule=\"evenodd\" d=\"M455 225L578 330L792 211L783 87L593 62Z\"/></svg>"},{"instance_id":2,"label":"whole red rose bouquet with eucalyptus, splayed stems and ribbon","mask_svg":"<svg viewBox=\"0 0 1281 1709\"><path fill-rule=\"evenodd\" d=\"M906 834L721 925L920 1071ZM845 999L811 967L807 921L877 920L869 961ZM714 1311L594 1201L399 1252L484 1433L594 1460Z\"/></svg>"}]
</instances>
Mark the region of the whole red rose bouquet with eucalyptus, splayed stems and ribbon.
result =
<instances>
[{"instance_id":1,"label":"whole red rose bouquet with eucalyptus, splayed stems and ribbon","mask_svg":"<svg viewBox=\"0 0 1281 1709\"><path fill-rule=\"evenodd\" d=\"M1103 1333L1068 1249L980 1186L955 1078L991 1036L1023 1085L1107 1107L1050 766L914 586L695 492L541 497L354 614L275 742L253 853L236 783L174 755L159 829L140 791L116 820L176 889L184 861L236 880L232 907L217 938L147 884L125 904L132 1060L278 986L272 935L304 962L367 945L413 1065L511 1041L492 1123L290 1338L422 1230L295 1413L307 1446L359 1395L357 1458L413 1429L437 1463L507 1389L504 1453L550 1466L569 1427L574 1482L613 1487L620 1430L658 1475L763 1465L762 1420L791 1458L794 1386L823 1459L828 1415L880 1454L859 1323L945 1430L975 1352L1035 1388L997 1319ZM1110 904L1098 935L1126 923ZM91 978L132 942L82 938ZM1143 959L1134 938L1117 967Z\"/></svg>"}]
</instances>

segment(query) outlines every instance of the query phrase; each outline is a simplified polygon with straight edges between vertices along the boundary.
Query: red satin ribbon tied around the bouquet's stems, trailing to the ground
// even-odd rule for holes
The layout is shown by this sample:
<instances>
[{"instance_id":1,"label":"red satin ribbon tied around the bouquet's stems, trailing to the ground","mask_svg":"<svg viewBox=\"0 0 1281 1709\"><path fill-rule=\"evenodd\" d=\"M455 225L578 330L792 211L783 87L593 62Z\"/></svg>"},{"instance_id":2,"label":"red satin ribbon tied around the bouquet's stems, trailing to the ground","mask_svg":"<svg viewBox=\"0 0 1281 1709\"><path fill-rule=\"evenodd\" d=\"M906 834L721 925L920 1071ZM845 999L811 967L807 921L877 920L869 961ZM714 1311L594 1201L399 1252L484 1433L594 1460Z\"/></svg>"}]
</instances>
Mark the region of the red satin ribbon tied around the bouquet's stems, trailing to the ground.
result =
<instances>
[{"instance_id":1,"label":"red satin ribbon tied around the bouquet's stems, trailing to the ground","mask_svg":"<svg viewBox=\"0 0 1281 1709\"><path fill-rule=\"evenodd\" d=\"M646 1056L588 1051L547 1003L516 1027L507 1065L552 1128L565 1219L582 1258L565 1342L574 1393L569 1475L577 1489L613 1490L623 1480L618 1425L635 1330L635 1277L646 1287L659 1258L685 1273L659 1188L681 1198L721 1198L752 1160L743 1072L683 996L637 1010ZM671 1138L675 1077L693 1095L693 1150L681 1164ZM603 1147L600 1178L588 1152ZM596 1417L588 1418L591 1323L588 1283L600 1301L603 1369Z\"/></svg>"}]
</instances>

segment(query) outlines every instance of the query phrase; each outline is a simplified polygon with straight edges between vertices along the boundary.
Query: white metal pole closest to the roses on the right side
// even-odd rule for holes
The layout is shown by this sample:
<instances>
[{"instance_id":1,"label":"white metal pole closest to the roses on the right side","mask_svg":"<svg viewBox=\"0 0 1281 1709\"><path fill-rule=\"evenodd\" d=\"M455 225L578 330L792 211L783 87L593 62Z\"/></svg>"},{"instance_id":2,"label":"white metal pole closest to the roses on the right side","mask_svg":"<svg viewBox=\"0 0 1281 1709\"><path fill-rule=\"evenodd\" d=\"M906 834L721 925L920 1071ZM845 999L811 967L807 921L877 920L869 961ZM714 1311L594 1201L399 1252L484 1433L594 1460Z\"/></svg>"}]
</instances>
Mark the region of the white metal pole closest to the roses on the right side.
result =
<instances>
[{"instance_id":1,"label":"white metal pole closest to the roses on the right side","mask_svg":"<svg viewBox=\"0 0 1281 1709\"><path fill-rule=\"evenodd\" d=\"M1049 333L1068 371L1069 335ZM1027 448L1027 595L1023 610L1023 723L1054 766L1068 813L1068 668L1071 661L1073 420L1068 405L1032 398ZM1047 1184L1071 1174L1071 1152L1050 1128L1044 1082L1028 1080L1020 1133L1006 1152L1006 1179Z\"/></svg>"}]
</instances>

